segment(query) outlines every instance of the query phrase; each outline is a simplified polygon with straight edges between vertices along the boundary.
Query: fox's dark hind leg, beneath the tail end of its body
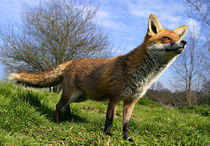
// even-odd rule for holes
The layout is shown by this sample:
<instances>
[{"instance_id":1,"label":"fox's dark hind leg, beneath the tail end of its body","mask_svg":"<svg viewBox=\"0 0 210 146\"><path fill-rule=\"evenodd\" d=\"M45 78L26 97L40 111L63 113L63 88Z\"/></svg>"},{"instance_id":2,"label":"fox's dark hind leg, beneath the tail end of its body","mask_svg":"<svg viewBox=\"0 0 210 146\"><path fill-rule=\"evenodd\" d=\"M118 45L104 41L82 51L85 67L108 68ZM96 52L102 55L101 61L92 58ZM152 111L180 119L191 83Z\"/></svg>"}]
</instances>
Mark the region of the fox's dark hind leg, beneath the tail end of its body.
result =
<instances>
[{"instance_id":1,"label":"fox's dark hind leg, beneath the tail end of its body","mask_svg":"<svg viewBox=\"0 0 210 146\"><path fill-rule=\"evenodd\" d=\"M58 122L61 117L60 117L60 111L64 106L69 106L69 102L76 100L80 95L81 95L81 91L79 90L75 90L73 92L65 92L63 91L62 95L61 95L61 99L58 102L58 104L56 105L56 121ZM70 113L70 107L66 108L69 113Z\"/></svg>"}]
</instances>

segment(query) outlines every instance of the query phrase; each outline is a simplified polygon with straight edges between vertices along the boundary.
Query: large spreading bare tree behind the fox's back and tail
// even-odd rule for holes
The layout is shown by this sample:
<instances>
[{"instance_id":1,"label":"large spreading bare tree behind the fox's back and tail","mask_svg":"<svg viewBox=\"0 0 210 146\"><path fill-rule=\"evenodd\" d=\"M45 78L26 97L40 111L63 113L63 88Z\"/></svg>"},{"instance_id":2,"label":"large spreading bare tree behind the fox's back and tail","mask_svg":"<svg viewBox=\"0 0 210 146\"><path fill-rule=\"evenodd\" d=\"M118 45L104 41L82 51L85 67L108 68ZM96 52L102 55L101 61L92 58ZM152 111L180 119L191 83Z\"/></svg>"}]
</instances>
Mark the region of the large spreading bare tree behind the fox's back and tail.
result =
<instances>
[{"instance_id":1,"label":"large spreading bare tree behind the fox's back and tail","mask_svg":"<svg viewBox=\"0 0 210 146\"><path fill-rule=\"evenodd\" d=\"M109 56L108 35L95 23L96 8L75 0L25 7L19 25L1 32L1 60L16 72L41 72L72 59Z\"/></svg>"}]
</instances>

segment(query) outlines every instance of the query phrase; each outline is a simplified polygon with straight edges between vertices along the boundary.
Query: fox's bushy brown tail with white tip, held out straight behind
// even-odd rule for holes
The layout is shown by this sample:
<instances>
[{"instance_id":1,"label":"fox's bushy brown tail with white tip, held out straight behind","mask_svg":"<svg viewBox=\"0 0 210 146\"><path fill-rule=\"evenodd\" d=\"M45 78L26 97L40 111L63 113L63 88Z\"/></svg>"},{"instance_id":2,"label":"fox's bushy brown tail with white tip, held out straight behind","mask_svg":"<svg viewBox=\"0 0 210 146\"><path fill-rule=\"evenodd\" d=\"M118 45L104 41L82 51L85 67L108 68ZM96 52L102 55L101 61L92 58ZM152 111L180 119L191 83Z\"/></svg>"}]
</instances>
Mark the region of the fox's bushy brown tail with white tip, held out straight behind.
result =
<instances>
[{"instance_id":1,"label":"fox's bushy brown tail with white tip, held out straight behind","mask_svg":"<svg viewBox=\"0 0 210 146\"><path fill-rule=\"evenodd\" d=\"M50 87L62 82L65 69L70 63L71 61L61 63L41 73L12 73L8 76L8 80L32 87Z\"/></svg>"}]
</instances>

